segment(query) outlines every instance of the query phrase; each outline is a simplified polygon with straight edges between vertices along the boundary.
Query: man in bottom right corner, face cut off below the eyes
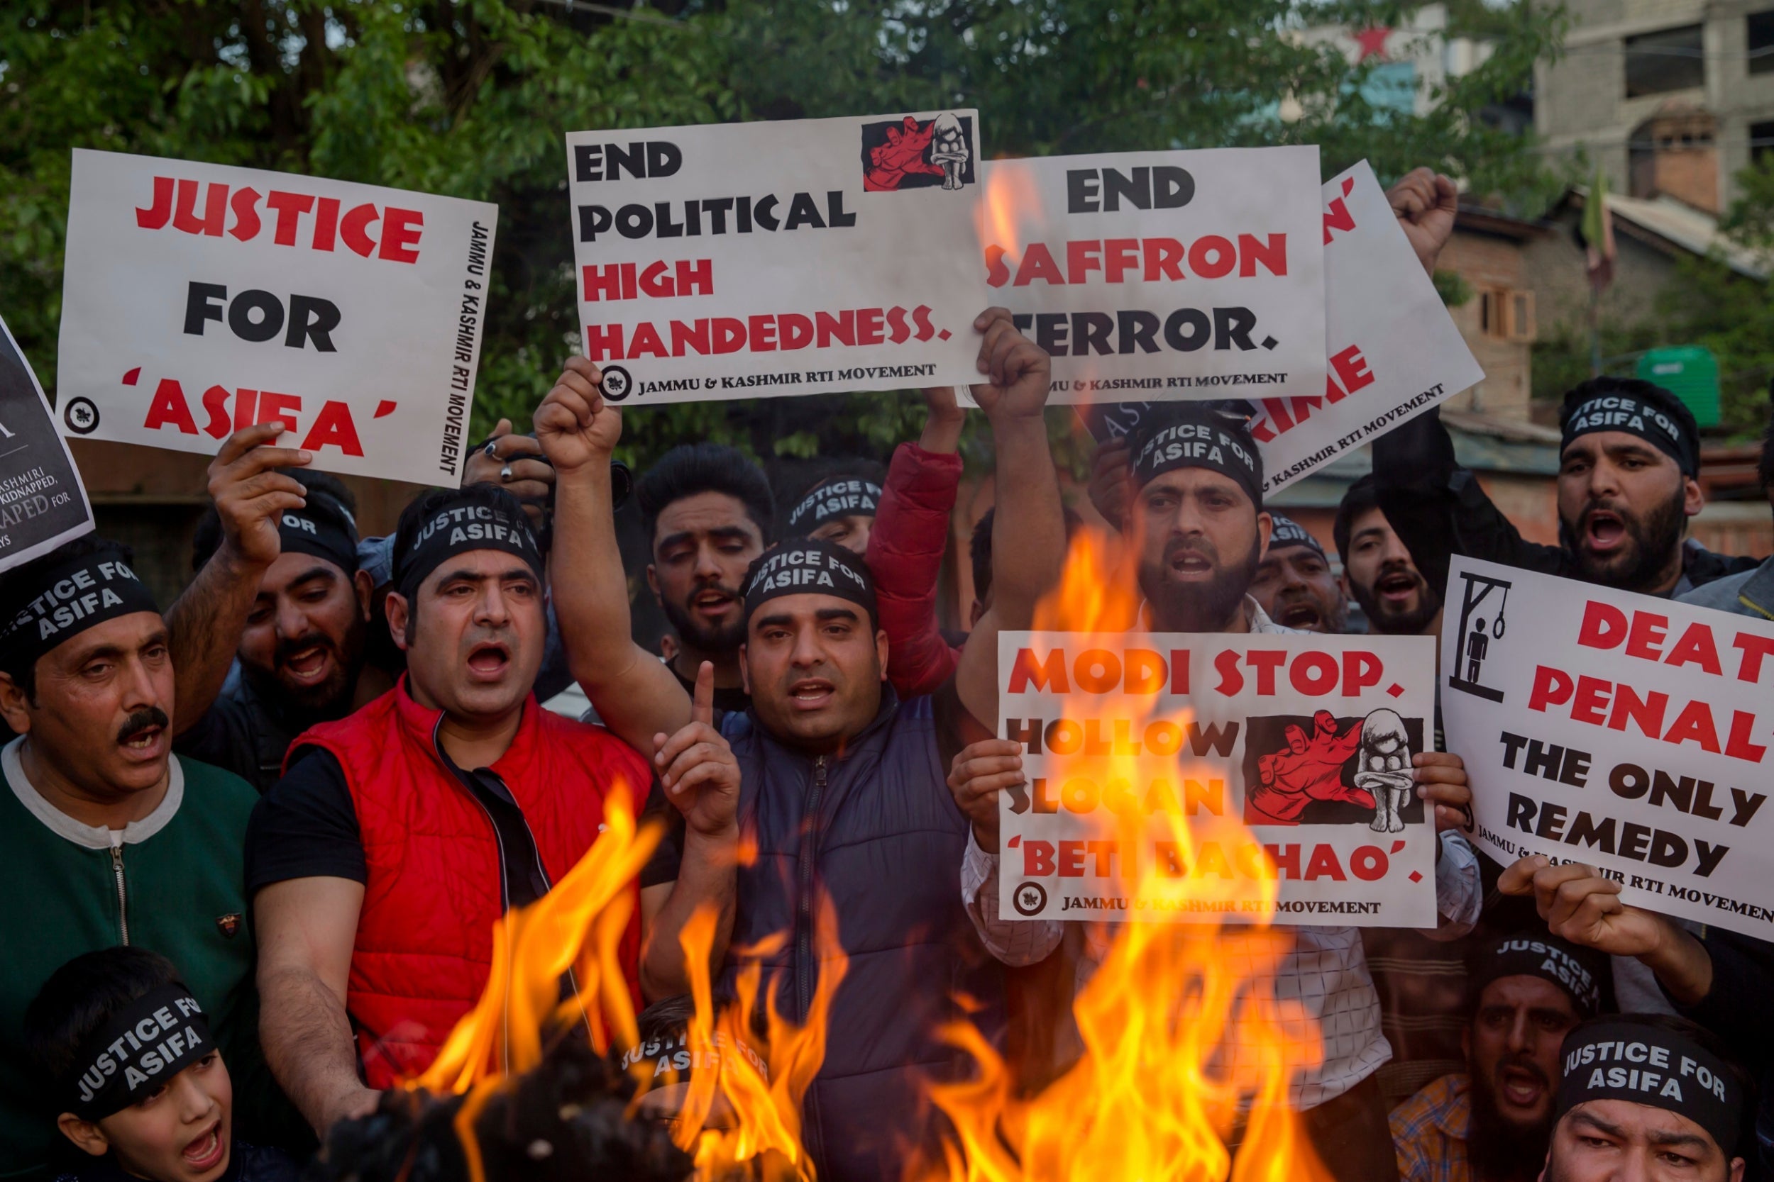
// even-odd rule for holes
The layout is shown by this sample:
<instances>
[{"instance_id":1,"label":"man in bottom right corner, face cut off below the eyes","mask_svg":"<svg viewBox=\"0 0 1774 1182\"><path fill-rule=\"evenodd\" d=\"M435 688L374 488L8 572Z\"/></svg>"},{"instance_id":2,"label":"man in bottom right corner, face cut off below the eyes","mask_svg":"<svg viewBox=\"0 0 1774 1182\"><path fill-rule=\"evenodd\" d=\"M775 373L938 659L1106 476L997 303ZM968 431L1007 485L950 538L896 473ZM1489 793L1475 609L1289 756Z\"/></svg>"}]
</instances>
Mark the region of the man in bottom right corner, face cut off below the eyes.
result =
<instances>
[{"instance_id":1,"label":"man in bottom right corner, face cut off below the eyes","mask_svg":"<svg viewBox=\"0 0 1774 1182\"><path fill-rule=\"evenodd\" d=\"M1753 1085L1680 1017L1620 1014L1565 1038L1545 1182L1742 1182Z\"/></svg>"}]
</instances>

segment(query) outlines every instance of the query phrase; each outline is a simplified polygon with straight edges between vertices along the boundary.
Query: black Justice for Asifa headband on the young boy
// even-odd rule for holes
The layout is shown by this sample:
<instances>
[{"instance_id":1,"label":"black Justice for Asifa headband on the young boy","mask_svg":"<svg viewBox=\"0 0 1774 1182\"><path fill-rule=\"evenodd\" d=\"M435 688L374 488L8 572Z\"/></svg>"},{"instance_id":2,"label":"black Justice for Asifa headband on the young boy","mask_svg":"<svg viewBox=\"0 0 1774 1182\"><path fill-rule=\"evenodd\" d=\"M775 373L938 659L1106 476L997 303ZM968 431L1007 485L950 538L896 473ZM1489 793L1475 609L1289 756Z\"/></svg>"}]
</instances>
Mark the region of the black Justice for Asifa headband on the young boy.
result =
<instances>
[{"instance_id":1,"label":"black Justice for Asifa headband on the young boy","mask_svg":"<svg viewBox=\"0 0 1774 1182\"><path fill-rule=\"evenodd\" d=\"M169 982L131 1001L80 1044L64 1111L103 1120L138 1104L215 1051L197 998Z\"/></svg>"}]
</instances>

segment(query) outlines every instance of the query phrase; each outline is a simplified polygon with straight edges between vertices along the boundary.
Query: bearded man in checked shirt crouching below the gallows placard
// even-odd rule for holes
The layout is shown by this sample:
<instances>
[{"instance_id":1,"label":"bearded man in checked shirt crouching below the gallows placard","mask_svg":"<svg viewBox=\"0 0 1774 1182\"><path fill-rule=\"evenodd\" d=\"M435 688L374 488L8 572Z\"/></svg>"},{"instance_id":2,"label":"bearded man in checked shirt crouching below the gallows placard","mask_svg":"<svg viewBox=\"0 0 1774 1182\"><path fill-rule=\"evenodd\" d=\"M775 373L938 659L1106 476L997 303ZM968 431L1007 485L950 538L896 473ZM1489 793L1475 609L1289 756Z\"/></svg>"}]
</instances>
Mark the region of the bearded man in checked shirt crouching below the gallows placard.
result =
<instances>
[{"instance_id":1,"label":"bearded man in checked shirt crouching below the gallows placard","mask_svg":"<svg viewBox=\"0 0 1774 1182\"><path fill-rule=\"evenodd\" d=\"M1559 1046L1595 1017L1607 960L1545 930L1474 948L1467 1069L1391 1116L1400 1182L1535 1182L1552 1134Z\"/></svg>"}]
</instances>

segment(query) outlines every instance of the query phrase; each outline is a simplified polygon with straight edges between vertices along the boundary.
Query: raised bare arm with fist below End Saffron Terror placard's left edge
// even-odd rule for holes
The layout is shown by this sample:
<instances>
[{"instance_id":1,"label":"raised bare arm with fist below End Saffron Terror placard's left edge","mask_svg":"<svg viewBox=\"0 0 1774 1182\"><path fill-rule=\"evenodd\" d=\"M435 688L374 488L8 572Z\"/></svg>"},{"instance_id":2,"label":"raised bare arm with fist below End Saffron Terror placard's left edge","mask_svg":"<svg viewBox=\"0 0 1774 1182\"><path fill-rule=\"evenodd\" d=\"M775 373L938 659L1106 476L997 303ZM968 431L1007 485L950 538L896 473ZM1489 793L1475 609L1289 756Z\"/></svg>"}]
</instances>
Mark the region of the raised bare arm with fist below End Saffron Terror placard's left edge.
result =
<instances>
[{"instance_id":1,"label":"raised bare arm with fist below End Saffron Terror placard's left edge","mask_svg":"<svg viewBox=\"0 0 1774 1182\"><path fill-rule=\"evenodd\" d=\"M997 732L997 634L1034 622L1034 604L1066 562L1066 514L1047 445L1047 388L1052 367L1043 349L1017 331L1006 308L988 308L974 328L985 333L974 400L992 422L997 512L992 521L992 610L974 626L954 670L962 705Z\"/></svg>"}]
</instances>

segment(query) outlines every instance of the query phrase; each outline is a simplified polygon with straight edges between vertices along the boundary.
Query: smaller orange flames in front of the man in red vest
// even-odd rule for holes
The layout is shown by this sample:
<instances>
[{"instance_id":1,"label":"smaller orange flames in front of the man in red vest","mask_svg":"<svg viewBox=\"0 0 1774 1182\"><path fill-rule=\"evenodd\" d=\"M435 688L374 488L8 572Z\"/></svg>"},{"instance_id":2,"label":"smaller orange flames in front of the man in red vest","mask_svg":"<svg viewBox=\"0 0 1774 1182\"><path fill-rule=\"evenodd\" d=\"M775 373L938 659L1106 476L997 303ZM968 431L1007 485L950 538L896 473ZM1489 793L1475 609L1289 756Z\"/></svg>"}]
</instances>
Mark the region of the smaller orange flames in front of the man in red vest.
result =
<instances>
[{"instance_id":1,"label":"smaller orange flames in front of the man in red vest","mask_svg":"<svg viewBox=\"0 0 1774 1182\"><path fill-rule=\"evenodd\" d=\"M500 1086L543 1061L550 1035L559 1037L584 1021L600 1054L635 1046L639 1031L619 945L633 913L628 884L660 836L656 824L637 828L626 794L612 794L605 831L578 865L539 900L498 920L493 969L479 1003L456 1024L431 1067L408 1083L440 1095L467 1093L454 1127L474 1182L484 1182L475 1118ZM699 1180L727 1178L743 1170L754 1182L814 1182L800 1143L800 1102L825 1060L827 1014L848 969L836 918L828 906L821 907L816 941L823 971L807 1024L782 1017L773 994L765 998L768 1076L747 1054L733 1053L757 1042L750 1015L765 989L761 968L745 968L734 1001L717 1012L710 980L715 927L715 913L699 909L679 937L695 1001L688 1051L694 1061L718 1058L720 1067L692 1072L672 1139L694 1157ZM562 1001L566 973L571 973L577 996Z\"/></svg>"}]
</instances>

